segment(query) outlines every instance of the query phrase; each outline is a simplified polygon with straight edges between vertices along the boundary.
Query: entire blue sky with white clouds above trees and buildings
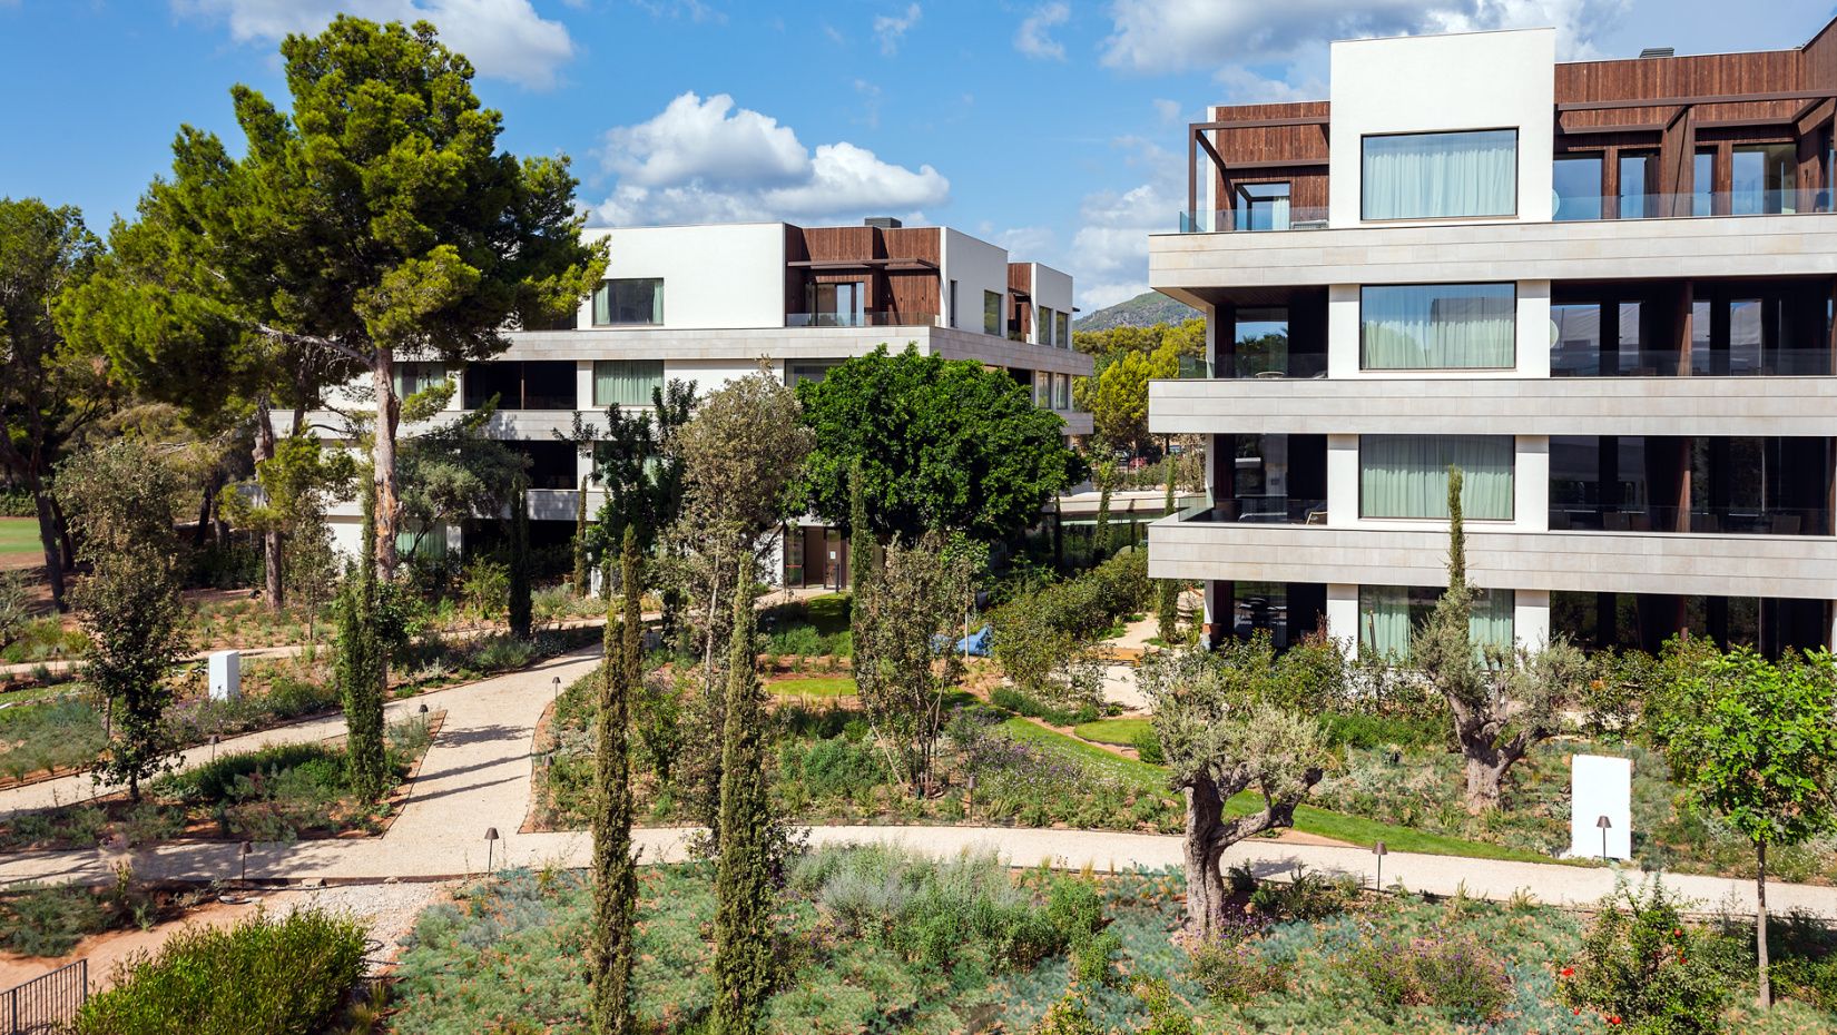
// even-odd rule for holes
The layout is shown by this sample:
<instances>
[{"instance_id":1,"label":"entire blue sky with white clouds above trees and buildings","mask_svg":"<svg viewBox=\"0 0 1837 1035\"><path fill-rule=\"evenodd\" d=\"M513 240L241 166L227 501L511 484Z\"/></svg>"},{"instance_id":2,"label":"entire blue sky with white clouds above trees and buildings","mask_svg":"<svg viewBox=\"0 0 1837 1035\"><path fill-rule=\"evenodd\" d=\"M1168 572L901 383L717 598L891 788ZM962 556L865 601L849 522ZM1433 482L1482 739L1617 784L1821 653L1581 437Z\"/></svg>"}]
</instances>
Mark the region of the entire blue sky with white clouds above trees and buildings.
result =
<instances>
[{"instance_id":1,"label":"entire blue sky with white clouds above trees and buildings","mask_svg":"<svg viewBox=\"0 0 1837 1035\"><path fill-rule=\"evenodd\" d=\"M1565 59L1789 48L1830 0L0 0L0 195L97 229L180 123L239 147L228 88L334 11L426 17L502 143L566 152L599 224L898 215L1146 288L1207 105L1326 95L1326 40L1556 26Z\"/></svg>"}]
</instances>

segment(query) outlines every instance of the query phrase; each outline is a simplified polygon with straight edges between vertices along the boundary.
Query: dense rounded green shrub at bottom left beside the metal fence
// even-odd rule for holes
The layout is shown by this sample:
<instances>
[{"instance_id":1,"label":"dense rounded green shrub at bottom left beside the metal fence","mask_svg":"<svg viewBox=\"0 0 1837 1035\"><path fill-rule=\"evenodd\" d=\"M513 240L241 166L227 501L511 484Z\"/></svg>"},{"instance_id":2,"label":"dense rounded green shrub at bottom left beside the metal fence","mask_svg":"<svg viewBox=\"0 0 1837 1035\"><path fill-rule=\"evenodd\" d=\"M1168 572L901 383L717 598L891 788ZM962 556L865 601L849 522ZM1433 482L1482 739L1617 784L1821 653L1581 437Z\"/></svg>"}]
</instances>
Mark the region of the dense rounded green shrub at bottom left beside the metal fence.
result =
<instances>
[{"instance_id":1,"label":"dense rounded green shrub at bottom left beside the metal fence","mask_svg":"<svg viewBox=\"0 0 1837 1035\"><path fill-rule=\"evenodd\" d=\"M318 910L187 927L116 965L77 1035L310 1035L364 973L364 927Z\"/></svg>"}]
</instances>

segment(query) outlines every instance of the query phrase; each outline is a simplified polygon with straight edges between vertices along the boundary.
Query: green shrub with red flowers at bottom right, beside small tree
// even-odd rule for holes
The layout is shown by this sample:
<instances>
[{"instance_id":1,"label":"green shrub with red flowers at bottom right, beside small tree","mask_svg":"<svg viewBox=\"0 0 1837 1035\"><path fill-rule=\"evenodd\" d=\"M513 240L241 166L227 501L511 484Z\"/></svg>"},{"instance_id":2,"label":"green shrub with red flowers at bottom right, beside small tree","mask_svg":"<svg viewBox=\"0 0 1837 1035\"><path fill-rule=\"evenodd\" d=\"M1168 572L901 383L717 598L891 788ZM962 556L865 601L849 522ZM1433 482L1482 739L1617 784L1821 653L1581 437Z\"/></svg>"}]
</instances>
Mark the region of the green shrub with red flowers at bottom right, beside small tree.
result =
<instances>
[{"instance_id":1,"label":"green shrub with red flowers at bottom right, beside small tree","mask_svg":"<svg viewBox=\"0 0 1837 1035\"><path fill-rule=\"evenodd\" d=\"M1639 1035L1718 1031L1730 991L1718 967L1725 952L1719 934L1685 925L1657 879L1639 892L1622 883L1602 899L1558 995L1565 1006L1618 1017Z\"/></svg>"}]
</instances>

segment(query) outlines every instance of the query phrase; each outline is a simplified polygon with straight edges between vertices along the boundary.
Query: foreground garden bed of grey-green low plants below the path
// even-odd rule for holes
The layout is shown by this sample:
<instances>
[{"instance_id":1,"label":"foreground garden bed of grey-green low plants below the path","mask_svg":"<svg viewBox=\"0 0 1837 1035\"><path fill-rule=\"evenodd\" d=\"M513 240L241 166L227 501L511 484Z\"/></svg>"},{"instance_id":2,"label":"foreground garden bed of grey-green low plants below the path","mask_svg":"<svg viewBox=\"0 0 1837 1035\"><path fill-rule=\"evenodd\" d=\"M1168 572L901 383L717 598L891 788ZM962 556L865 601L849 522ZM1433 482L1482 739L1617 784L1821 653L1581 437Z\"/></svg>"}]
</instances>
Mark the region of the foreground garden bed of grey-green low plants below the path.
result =
<instances>
[{"instance_id":1,"label":"foreground garden bed of grey-green low plants below the path","mask_svg":"<svg viewBox=\"0 0 1837 1035\"><path fill-rule=\"evenodd\" d=\"M1236 872L1238 919L1190 941L1183 890L1165 872L1010 872L992 855L939 862L887 846L792 857L777 892L766 1031L1552 1035L1626 1022L1787 1035L1837 1024L1831 989L1819 984L1837 976L1831 940L1806 921L1778 940L1776 973L1802 976L1771 1011L1751 1006L1743 921L1679 925L1679 940L1705 954L1696 974L1712 982L1699 1000L1710 1013L1633 1028L1633 1017L1576 1006L1589 991L1578 974L1593 973L1585 912ZM637 896L637 1015L650 1031L700 1031L715 985L713 866L648 866ZM575 872L461 888L408 940L388 1031L584 1029L590 916ZM1661 995L1662 980L1655 973L1648 991Z\"/></svg>"}]
</instances>

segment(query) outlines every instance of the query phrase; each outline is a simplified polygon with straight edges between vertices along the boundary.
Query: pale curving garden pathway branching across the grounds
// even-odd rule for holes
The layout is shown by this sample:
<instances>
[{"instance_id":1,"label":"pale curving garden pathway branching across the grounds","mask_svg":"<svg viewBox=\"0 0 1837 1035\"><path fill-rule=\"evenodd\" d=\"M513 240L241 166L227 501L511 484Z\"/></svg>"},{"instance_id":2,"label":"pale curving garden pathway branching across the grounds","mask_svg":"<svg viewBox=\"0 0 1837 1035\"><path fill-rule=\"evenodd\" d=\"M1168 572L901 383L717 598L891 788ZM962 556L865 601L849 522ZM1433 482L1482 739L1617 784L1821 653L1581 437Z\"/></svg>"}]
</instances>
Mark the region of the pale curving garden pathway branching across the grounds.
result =
<instances>
[{"instance_id":1,"label":"pale curving garden pathway branching across the grounds","mask_svg":"<svg viewBox=\"0 0 1837 1035\"><path fill-rule=\"evenodd\" d=\"M428 749L421 776L389 831L378 839L303 840L296 844L255 844L248 857L250 879L294 881L430 881L479 874L487 866L586 866L592 839L573 833L518 833L529 807L531 741L536 719L549 705L555 679L562 686L592 672L599 648L582 648L511 675L483 679L467 686L435 690L391 705L391 716L423 703L445 710L441 734ZM250 734L224 741L220 751L276 743L276 738L316 740L342 730L344 719L301 723L268 734ZM0 807L39 807L64 784L62 802L70 802L75 784L92 791L86 776L0 791ZM498 840L485 839L487 829ZM685 828L647 828L634 831L645 862L671 862L685 857ZM999 851L1016 866L1049 862L1060 868L1126 870L1132 866L1178 866L1181 839L1165 835L963 828L963 826L823 826L810 829L812 844L893 842L931 855L970 850ZM1249 862L1264 875L1291 874L1297 866L1313 872L1372 877L1372 855L1361 848L1299 844L1255 839L1236 844L1227 862ZM169 844L129 851L26 851L0 859L0 885L15 881L96 881L114 877L118 862L130 862L141 879L237 877L241 859L235 842ZM1613 890L1615 870L1558 866L1539 862L1503 862L1449 855L1392 851L1385 857L1385 883L1403 883L1418 892L1506 899L1528 892L1549 905L1589 905ZM1635 881L1640 874L1629 872ZM1754 910L1754 885L1721 877L1666 875L1664 883L1701 903L1701 908ZM1769 908L1800 908L1837 918L1837 888L1809 885L1769 885Z\"/></svg>"}]
</instances>

